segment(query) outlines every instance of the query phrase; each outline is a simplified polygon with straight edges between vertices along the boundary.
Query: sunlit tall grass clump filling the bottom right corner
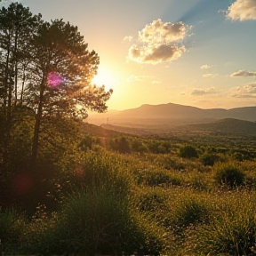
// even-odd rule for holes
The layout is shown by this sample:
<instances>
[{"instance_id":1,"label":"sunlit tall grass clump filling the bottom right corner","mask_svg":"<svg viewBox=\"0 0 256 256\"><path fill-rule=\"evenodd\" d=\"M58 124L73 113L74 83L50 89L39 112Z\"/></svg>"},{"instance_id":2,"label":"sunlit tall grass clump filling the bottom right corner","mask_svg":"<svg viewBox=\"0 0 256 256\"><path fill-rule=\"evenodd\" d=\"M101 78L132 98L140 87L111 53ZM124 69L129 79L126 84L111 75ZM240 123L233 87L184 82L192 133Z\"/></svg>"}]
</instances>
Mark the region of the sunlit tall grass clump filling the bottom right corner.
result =
<instances>
[{"instance_id":1,"label":"sunlit tall grass clump filling the bottom right corner","mask_svg":"<svg viewBox=\"0 0 256 256\"><path fill-rule=\"evenodd\" d=\"M211 220L188 235L188 250L204 255L251 255L256 236L255 202L255 193L249 191L216 198Z\"/></svg>"}]
</instances>

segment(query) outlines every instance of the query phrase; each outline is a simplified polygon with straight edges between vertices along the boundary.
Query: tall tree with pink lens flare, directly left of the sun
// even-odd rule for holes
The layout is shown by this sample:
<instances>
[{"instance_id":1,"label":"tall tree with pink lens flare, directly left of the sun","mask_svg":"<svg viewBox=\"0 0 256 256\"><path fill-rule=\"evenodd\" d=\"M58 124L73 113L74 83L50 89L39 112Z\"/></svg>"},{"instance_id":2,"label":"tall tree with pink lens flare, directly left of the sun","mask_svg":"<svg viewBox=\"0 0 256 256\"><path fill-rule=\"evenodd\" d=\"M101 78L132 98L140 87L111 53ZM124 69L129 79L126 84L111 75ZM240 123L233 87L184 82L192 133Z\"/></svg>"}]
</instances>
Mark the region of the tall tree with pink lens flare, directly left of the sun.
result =
<instances>
[{"instance_id":1,"label":"tall tree with pink lens flare, directly left of the sun","mask_svg":"<svg viewBox=\"0 0 256 256\"><path fill-rule=\"evenodd\" d=\"M112 90L91 85L99 65L89 52L78 28L63 20L44 22L32 42L30 84L27 99L35 109L36 123L32 163L36 161L40 126L47 116L85 118L87 109L105 111Z\"/></svg>"}]
</instances>

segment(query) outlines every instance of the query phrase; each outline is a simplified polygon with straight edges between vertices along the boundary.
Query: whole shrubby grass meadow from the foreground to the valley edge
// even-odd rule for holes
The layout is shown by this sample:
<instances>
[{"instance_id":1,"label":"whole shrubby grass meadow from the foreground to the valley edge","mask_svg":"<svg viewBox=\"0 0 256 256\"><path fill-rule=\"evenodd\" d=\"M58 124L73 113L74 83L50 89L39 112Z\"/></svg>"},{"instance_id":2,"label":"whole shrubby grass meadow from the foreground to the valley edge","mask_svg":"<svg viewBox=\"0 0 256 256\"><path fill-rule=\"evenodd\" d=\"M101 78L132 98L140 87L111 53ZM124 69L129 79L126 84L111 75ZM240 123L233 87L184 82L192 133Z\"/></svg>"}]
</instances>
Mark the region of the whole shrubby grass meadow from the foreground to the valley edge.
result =
<instances>
[{"instance_id":1,"label":"whole shrubby grass meadow from the foreground to the valley edge","mask_svg":"<svg viewBox=\"0 0 256 256\"><path fill-rule=\"evenodd\" d=\"M0 238L6 255L255 252L251 140L237 147L236 140L242 140L228 135L221 143L208 134L211 143L205 143L200 136L186 141L179 132L172 140L76 122L67 127L65 136L52 127L54 140L41 140L36 186L28 189L20 166L28 161L29 132L22 140L13 133L12 173L1 180Z\"/></svg>"}]
</instances>

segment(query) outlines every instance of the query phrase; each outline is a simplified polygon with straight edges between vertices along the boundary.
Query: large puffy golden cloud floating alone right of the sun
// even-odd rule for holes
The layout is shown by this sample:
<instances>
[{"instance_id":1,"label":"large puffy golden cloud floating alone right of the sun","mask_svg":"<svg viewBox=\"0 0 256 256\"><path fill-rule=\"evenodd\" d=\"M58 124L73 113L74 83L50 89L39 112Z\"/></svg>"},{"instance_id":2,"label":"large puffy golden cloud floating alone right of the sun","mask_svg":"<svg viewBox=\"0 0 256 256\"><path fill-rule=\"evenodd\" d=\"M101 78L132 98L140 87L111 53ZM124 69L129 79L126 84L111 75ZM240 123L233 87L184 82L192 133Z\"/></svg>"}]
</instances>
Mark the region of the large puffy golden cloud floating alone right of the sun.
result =
<instances>
[{"instance_id":1,"label":"large puffy golden cloud floating alone right of the sun","mask_svg":"<svg viewBox=\"0 0 256 256\"><path fill-rule=\"evenodd\" d=\"M177 60L186 52L182 40L187 34L188 26L183 22L154 20L139 31L138 42L132 44L128 57L133 61L151 64Z\"/></svg>"}]
</instances>

